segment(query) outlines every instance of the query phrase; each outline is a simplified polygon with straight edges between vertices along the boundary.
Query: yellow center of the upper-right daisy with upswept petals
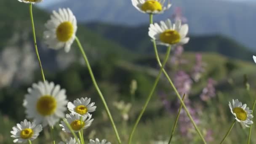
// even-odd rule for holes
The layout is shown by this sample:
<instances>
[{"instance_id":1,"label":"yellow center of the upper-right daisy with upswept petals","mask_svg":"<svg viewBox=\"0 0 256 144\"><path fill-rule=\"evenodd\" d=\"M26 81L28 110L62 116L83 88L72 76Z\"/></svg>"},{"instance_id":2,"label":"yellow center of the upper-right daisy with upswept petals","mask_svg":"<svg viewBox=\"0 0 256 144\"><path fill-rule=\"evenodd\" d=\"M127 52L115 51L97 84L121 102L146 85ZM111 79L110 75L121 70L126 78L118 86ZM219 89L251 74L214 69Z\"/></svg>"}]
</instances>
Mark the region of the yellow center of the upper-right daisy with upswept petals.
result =
<instances>
[{"instance_id":1,"label":"yellow center of the upper-right daisy with upswept petals","mask_svg":"<svg viewBox=\"0 0 256 144\"><path fill-rule=\"evenodd\" d=\"M160 40L163 43L168 43L170 45L179 43L181 40L181 36L179 35L179 32L176 30L165 30L163 33L160 34Z\"/></svg>"}]
</instances>

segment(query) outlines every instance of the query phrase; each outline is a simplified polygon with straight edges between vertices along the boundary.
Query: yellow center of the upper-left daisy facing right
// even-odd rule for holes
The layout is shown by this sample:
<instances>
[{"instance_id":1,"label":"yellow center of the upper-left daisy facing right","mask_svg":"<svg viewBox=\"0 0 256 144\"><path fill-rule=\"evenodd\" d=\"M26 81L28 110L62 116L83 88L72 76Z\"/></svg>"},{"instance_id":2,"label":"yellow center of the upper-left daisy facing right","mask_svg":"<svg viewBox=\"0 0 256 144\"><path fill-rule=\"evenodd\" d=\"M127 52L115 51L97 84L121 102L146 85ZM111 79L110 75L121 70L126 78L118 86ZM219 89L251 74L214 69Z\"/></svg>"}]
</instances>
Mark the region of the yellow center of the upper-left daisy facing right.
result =
<instances>
[{"instance_id":1,"label":"yellow center of the upper-left daisy facing right","mask_svg":"<svg viewBox=\"0 0 256 144\"><path fill-rule=\"evenodd\" d=\"M71 22L65 21L56 29L57 39L61 42L67 42L74 33L74 27Z\"/></svg>"}]
</instances>

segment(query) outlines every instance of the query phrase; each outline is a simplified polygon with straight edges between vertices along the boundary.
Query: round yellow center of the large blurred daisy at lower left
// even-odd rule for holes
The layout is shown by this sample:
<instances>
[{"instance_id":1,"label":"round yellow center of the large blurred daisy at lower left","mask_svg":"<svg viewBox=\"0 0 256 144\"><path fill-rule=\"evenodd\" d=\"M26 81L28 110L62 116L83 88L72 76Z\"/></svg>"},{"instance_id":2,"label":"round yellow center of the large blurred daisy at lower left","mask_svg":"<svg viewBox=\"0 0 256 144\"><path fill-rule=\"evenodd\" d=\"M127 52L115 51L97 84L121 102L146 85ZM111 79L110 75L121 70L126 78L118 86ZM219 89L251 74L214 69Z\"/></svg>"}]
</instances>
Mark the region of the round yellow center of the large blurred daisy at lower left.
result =
<instances>
[{"instance_id":1,"label":"round yellow center of the large blurred daisy at lower left","mask_svg":"<svg viewBox=\"0 0 256 144\"><path fill-rule=\"evenodd\" d=\"M40 99L37 101L37 112L39 112L40 115L43 116L53 114L55 112L56 107L57 102L53 96L41 96Z\"/></svg>"}]
</instances>

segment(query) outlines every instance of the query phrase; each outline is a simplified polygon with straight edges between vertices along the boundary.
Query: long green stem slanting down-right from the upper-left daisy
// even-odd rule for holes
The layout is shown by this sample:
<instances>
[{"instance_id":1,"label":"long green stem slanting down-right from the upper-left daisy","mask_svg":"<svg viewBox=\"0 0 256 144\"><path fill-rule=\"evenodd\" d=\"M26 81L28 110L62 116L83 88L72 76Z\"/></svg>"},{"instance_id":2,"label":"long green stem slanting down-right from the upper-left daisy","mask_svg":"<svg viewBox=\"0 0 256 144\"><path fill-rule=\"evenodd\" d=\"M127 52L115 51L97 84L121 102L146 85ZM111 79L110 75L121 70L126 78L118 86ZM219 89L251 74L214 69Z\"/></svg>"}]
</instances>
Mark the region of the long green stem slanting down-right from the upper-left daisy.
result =
<instances>
[{"instance_id":1,"label":"long green stem slanting down-right from the upper-left daisy","mask_svg":"<svg viewBox=\"0 0 256 144\"><path fill-rule=\"evenodd\" d=\"M83 55L83 58L85 59L85 63L86 63L86 65L87 65L87 68L88 68L89 73L90 73L90 75L91 75L91 79L92 79L92 81L93 81L93 85L94 85L94 87L96 88L97 92L99 93L99 96L100 96L100 98L101 98L101 101L103 102L104 107L105 107L105 109L106 109L106 111L107 111L107 115L108 115L108 117L109 117L109 119L110 119L110 121L111 121L111 123L112 123L112 127L114 128L115 135L116 135L116 137L117 137L118 143L121 144L121 140L120 140L120 137L119 137L117 128L116 128L116 126L115 126L114 120L113 120L112 115L111 115L111 113L110 113L110 111L109 111L109 108L107 107L107 103L106 103L106 101L105 101L105 99L104 99L104 96L102 95L102 93L101 93L101 91L100 91L100 89L99 89L99 86L98 86L98 84L97 84L97 82L96 82L96 80L95 80L95 78L94 78L93 71L91 70L90 63L89 63L89 61L88 61L88 59L87 59L87 56L85 55L85 51L83 50L83 47L82 47L82 45L81 45L79 39L78 39L77 37L75 37L75 40L76 40L76 42L77 42L78 47L80 48L80 51L81 51L81 53L82 53L82 55Z\"/></svg>"}]
</instances>

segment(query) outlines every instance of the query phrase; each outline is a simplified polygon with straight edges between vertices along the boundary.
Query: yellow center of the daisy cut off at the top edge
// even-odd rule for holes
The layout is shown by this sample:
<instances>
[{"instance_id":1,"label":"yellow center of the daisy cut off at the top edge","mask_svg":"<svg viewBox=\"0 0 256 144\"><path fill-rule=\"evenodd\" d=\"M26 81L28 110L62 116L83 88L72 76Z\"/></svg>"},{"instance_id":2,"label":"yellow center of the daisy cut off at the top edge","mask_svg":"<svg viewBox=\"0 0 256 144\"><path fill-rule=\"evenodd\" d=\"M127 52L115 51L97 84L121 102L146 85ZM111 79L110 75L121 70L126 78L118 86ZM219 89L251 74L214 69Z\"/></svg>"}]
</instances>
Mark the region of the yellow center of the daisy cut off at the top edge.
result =
<instances>
[{"instance_id":1,"label":"yellow center of the daisy cut off at the top edge","mask_svg":"<svg viewBox=\"0 0 256 144\"><path fill-rule=\"evenodd\" d=\"M147 0L141 5L142 11L162 11L162 5L156 0Z\"/></svg>"}]
</instances>

